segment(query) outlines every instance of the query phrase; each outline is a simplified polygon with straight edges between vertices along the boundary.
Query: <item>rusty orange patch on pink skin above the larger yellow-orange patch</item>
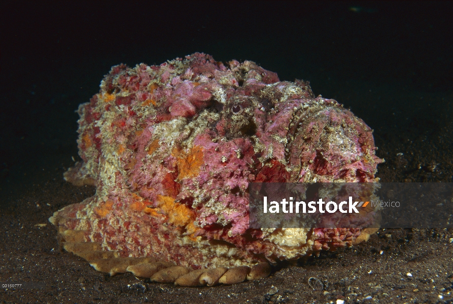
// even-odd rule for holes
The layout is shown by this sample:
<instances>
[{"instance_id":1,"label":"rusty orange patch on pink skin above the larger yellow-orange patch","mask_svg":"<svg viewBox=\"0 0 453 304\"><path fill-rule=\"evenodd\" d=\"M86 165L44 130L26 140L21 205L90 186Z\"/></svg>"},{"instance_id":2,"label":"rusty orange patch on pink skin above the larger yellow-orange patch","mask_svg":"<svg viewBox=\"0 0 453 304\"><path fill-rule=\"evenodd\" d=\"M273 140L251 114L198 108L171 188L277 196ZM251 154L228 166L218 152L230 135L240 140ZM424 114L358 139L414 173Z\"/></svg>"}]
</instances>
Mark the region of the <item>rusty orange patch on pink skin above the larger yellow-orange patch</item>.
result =
<instances>
[{"instance_id":1,"label":"rusty orange patch on pink skin above the larger yellow-orange patch","mask_svg":"<svg viewBox=\"0 0 453 304\"><path fill-rule=\"evenodd\" d=\"M182 180L186 177L194 177L200 173L201 165L203 164L203 148L193 146L189 153L185 153L179 149L173 149L171 155L176 157L178 164L178 178Z\"/></svg>"}]
</instances>

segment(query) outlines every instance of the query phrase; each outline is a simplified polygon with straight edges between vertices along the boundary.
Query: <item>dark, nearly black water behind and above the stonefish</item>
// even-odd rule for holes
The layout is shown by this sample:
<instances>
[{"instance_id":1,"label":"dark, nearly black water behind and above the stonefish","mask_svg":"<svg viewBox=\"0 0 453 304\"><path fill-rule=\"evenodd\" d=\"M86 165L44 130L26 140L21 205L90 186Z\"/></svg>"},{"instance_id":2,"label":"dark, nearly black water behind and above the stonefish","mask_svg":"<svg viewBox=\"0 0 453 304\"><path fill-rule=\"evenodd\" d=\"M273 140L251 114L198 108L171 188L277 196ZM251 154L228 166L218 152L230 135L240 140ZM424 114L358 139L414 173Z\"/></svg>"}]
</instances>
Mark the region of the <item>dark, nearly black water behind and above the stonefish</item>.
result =
<instances>
[{"instance_id":1,"label":"dark, nearly black water behind and above the stonefish","mask_svg":"<svg viewBox=\"0 0 453 304\"><path fill-rule=\"evenodd\" d=\"M4 0L0 11L3 203L78 159L74 110L112 65L194 52L255 61L351 108L374 129L385 181L453 181L451 2Z\"/></svg>"}]
</instances>

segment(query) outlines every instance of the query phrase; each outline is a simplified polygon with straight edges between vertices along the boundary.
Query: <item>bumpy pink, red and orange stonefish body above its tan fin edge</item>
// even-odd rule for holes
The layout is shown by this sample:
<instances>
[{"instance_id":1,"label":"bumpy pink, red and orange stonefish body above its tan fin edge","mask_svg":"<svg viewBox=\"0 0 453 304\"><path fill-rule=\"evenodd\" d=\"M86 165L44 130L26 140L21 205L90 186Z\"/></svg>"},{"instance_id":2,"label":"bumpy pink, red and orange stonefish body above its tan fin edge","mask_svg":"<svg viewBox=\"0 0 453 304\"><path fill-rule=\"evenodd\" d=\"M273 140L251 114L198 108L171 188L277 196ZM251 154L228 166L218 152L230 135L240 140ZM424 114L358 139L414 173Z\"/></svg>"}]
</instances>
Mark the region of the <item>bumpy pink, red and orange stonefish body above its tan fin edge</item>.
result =
<instances>
[{"instance_id":1,"label":"bumpy pink, red and orange stonefish body above its tan fin edge","mask_svg":"<svg viewBox=\"0 0 453 304\"><path fill-rule=\"evenodd\" d=\"M117 65L79 107L83 162L65 173L96 195L50 221L121 257L233 267L366 239L360 229L249 229L250 182L374 181L370 128L308 83L254 62L195 53Z\"/></svg>"}]
</instances>

